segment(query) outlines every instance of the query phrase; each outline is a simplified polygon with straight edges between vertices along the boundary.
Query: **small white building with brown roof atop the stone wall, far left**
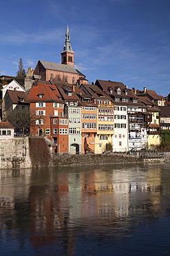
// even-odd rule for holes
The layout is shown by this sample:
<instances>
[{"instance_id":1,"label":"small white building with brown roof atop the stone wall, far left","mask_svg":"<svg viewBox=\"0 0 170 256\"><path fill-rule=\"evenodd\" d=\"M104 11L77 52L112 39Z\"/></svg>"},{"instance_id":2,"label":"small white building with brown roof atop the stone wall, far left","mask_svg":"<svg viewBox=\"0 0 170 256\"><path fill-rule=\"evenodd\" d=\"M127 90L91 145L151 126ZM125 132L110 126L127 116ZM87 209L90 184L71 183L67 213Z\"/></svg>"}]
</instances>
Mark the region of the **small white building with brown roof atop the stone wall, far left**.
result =
<instances>
[{"instance_id":1,"label":"small white building with brown roof atop the stone wall, far left","mask_svg":"<svg viewBox=\"0 0 170 256\"><path fill-rule=\"evenodd\" d=\"M10 122L0 122L0 139L14 138L14 127Z\"/></svg>"}]
</instances>

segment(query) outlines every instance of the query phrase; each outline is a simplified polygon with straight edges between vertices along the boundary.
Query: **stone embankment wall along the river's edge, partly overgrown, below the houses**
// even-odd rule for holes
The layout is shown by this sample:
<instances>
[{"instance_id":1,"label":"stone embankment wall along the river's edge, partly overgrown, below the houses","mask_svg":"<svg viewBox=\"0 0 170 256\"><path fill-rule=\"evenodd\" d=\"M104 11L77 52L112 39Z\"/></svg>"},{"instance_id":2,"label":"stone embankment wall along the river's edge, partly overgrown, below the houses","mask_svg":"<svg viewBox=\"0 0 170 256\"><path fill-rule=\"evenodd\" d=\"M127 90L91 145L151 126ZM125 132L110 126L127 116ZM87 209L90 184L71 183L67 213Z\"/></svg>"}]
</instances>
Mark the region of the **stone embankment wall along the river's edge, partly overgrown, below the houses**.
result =
<instances>
[{"instance_id":1,"label":"stone embankment wall along the river's edge, partly overgrown, below the houses","mask_svg":"<svg viewBox=\"0 0 170 256\"><path fill-rule=\"evenodd\" d=\"M22 137L0 140L0 169L49 166L107 165L127 163L158 163L170 161L170 153L163 154L61 154L50 155L44 138Z\"/></svg>"}]
</instances>

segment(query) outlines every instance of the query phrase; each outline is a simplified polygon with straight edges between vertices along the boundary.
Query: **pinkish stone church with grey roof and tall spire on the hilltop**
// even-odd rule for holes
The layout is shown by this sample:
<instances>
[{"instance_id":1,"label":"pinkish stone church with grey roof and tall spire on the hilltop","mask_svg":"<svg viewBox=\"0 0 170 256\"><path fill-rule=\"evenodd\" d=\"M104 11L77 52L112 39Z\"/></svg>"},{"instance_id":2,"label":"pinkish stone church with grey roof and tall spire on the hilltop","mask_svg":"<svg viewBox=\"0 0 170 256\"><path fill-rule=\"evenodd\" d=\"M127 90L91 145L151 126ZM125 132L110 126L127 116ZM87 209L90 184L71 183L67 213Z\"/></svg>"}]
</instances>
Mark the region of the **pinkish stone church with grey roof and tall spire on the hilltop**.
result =
<instances>
[{"instance_id":1,"label":"pinkish stone church with grey roof and tall spire on the hilltop","mask_svg":"<svg viewBox=\"0 0 170 256\"><path fill-rule=\"evenodd\" d=\"M41 77L41 80L56 82L67 82L68 84L87 84L80 71L74 68L74 51L70 44L70 31L67 26L65 33L65 46L61 53L61 64L39 60L34 69L34 76Z\"/></svg>"}]
</instances>

